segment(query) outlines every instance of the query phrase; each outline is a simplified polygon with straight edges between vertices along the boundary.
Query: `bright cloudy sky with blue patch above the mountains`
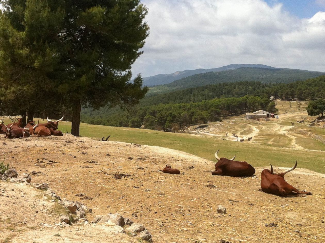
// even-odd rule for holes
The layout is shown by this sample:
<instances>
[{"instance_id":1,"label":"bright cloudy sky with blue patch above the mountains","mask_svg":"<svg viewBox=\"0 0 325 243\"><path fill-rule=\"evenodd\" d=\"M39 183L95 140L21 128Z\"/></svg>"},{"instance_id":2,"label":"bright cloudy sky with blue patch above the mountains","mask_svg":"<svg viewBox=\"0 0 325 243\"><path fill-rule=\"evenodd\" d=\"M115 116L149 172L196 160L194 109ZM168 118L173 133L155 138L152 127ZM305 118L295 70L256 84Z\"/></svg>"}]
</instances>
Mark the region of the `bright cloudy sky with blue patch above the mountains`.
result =
<instances>
[{"instance_id":1,"label":"bright cloudy sky with blue patch above the mountains","mask_svg":"<svg viewBox=\"0 0 325 243\"><path fill-rule=\"evenodd\" d=\"M325 0L142 0L150 34L133 76L228 64L325 72Z\"/></svg>"}]
</instances>

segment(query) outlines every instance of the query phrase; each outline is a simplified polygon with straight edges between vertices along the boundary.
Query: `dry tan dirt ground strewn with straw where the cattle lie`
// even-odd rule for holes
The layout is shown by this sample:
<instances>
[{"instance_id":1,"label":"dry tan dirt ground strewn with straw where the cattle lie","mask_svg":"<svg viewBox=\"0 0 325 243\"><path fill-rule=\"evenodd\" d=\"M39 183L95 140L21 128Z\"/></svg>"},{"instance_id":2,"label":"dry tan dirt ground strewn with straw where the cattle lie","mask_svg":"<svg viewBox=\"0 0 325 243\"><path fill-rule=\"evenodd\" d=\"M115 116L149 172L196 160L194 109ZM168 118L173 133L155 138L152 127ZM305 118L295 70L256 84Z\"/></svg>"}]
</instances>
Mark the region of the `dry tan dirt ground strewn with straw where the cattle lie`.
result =
<instances>
[{"instance_id":1,"label":"dry tan dirt ground strewn with straw where the cattle lie","mask_svg":"<svg viewBox=\"0 0 325 243\"><path fill-rule=\"evenodd\" d=\"M120 213L143 224L153 242L325 242L323 174L295 169L286 175L287 182L313 195L281 198L259 190L262 168L249 178L212 176L215 162L161 147L72 135L1 139L0 144L6 163L19 173L41 171L32 176L32 182L47 182L58 196L82 201L93 210L87 214L89 220L97 214ZM159 171L166 164L180 169L181 174ZM83 200L76 196L79 193L92 199ZM2 203L3 197L0 199ZM34 203L42 209L42 200ZM226 207L227 213L217 213L218 205ZM8 215L15 222L47 223L33 219L37 215L33 216L32 206L31 210L23 211L26 219L16 219L10 209L1 211L1 218ZM53 221L51 217L47 220ZM101 241L105 232L93 234L91 240L82 235L91 226L78 227L64 229L59 235L80 242L106 242ZM12 242L62 242L54 236L56 229L30 230L17 232ZM45 235L50 240L31 240Z\"/></svg>"}]
</instances>

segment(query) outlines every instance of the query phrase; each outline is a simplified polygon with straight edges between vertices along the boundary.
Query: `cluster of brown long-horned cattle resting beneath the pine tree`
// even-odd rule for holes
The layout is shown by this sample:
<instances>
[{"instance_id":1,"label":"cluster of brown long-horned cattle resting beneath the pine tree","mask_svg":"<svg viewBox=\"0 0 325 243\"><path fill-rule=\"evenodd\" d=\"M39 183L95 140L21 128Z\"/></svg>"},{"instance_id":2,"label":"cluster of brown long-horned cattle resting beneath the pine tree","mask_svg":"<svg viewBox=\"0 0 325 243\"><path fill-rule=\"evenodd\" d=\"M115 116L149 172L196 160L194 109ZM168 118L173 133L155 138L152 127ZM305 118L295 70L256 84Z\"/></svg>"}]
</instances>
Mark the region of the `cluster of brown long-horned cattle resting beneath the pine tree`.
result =
<instances>
[{"instance_id":1,"label":"cluster of brown long-horned cattle resting beneath the pine tree","mask_svg":"<svg viewBox=\"0 0 325 243\"><path fill-rule=\"evenodd\" d=\"M17 122L5 125L3 121L0 123L0 134L5 134L5 138L27 138L33 137L48 137L48 136L63 136L62 132L58 130L58 124L62 121L64 116L57 121L51 121L47 116L47 123L39 123L35 125L35 121L29 121L25 127L22 126L22 119L17 118Z\"/></svg>"}]
</instances>

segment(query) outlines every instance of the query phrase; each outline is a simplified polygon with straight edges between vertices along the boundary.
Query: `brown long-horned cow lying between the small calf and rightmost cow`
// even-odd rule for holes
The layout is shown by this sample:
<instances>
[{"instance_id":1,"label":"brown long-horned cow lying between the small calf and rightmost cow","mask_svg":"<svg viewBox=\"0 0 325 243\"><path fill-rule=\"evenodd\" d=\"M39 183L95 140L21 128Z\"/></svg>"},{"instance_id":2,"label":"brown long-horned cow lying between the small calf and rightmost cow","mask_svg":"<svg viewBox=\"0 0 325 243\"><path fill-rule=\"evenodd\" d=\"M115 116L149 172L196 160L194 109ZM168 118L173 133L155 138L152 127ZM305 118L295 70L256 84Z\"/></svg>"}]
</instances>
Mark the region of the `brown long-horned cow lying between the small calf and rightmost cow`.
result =
<instances>
[{"instance_id":1,"label":"brown long-horned cow lying between the small calf and rightmost cow","mask_svg":"<svg viewBox=\"0 0 325 243\"><path fill-rule=\"evenodd\" d=\"M213 175L226 175L226 176L252 176L255 169L246 161L234 161L236 155L232 159L219 158L218 151L215 153L215 158L218 162L215 164L215 171Z\"/></svg>"}]
</instances>

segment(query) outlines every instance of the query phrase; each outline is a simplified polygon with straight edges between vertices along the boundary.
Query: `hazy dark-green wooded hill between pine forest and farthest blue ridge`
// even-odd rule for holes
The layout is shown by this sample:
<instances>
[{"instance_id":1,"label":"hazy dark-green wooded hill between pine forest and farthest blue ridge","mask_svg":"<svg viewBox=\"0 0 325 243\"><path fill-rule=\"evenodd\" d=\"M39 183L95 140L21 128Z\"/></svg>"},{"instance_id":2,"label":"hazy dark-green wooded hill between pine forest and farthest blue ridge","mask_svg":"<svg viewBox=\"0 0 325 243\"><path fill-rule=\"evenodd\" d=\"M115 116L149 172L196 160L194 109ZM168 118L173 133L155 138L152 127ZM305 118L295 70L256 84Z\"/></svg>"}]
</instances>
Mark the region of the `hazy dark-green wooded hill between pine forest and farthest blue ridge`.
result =
<instances>
[{"instance_id":1,"label":"hazy dark-green wooded hill between pine forest and farthest blue ridge","mask_svg":"<svg viewBox=\"0 0 325 243\"><path fill-rule=\"evenodd\" d=\"M270 69L270 68L238 68L223 72L195 74L176 80L170 84L149 89L148 94L169 92L185 88L194 88L209 84L238 81L259 81L261 83L290 83L324 75L322 72L311 72L298 69Z\"/></svg>"}]
</instances>

